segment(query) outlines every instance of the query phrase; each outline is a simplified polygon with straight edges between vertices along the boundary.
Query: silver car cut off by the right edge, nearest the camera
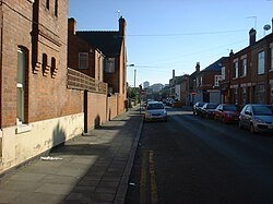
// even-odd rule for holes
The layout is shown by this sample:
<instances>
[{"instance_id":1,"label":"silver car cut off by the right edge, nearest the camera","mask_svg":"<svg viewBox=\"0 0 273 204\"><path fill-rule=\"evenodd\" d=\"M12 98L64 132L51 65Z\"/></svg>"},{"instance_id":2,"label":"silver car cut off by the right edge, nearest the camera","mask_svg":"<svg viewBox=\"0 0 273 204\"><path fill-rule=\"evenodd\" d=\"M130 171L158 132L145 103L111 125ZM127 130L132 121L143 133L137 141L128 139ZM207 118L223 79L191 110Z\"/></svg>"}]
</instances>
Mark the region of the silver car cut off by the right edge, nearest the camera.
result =
<instances>
[{"instance_id":1,"label":"silver car cut off by the right edge, nearest the camera","mask_svg":"<svg viewBox=\"0 0 273 204\"><path fill-rule=\"evenodd\" d=\"M273 133L273 106L271 105L246 105L239 116L239 128L247 128L251 133Z\"/></svg>"}]
</instances>

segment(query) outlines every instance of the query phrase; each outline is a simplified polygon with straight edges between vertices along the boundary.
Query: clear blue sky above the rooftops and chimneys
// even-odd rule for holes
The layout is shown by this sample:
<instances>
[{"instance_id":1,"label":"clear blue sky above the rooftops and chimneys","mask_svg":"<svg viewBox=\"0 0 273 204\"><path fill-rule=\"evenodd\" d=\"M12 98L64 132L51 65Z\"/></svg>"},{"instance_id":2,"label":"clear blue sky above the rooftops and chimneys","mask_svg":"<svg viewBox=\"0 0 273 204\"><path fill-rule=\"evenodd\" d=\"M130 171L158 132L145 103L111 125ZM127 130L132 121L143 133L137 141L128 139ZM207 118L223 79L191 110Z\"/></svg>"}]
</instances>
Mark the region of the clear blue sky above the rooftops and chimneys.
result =
<instances>
[{"instance_id":1,"label":"clear blue sky above the rooftops and chimneys","mask_svg":"<svg viewBox=\"0 0 273 204\"><path fill-rule=\"evenodd\" d=\"M252 27L257 40L272 32L272 11L273 0L69 0L76 31L118 31L126 19L130 86L168 84L173 70L191 74L246 48Z\"/></svg>"}]
</instances>

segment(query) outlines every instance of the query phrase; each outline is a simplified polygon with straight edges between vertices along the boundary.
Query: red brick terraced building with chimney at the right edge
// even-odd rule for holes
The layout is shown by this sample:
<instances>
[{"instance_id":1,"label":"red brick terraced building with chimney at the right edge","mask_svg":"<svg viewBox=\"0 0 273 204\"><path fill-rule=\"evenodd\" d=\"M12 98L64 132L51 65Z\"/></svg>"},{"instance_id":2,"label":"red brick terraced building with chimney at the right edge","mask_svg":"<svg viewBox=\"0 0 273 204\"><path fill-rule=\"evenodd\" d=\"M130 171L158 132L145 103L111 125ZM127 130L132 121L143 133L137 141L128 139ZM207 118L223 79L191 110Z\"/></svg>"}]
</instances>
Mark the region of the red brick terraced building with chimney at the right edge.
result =
<instances>
[{"instance_id":1,"label":"red brick terraced building with chimney at the right edge","mask_svg":"<svg viewBox=\"0 0 273 204\"><path fill-rule=\"evenodd\" d=\"M223 62L221 89L224 103L244 106L273 104L273 34L256 40L249 32L249 46Z\"/></svg>"}]
</instances>

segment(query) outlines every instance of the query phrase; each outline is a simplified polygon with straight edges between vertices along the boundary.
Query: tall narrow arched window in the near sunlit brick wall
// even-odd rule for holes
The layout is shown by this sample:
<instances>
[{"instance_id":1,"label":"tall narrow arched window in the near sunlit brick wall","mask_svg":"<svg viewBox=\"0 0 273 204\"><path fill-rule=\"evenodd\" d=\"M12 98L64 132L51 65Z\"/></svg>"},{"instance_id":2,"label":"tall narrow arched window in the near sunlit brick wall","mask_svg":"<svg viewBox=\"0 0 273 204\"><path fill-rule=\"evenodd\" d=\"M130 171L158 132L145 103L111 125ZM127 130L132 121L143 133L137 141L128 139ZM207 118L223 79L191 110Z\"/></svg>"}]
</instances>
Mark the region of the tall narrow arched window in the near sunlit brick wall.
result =
<instances>
[{"instance_id":1,"label":"tall narrow arched window in the near sunlit brick wall","mask_svg":"<svg viewBox=\"0 0 273 204\"><path fill-rule=\"evenodd\" d=\"M26 51L23 48L17 49L17 124L23 123L24 101L25 101L25 70Z\"/></svg>"}]
</instances>

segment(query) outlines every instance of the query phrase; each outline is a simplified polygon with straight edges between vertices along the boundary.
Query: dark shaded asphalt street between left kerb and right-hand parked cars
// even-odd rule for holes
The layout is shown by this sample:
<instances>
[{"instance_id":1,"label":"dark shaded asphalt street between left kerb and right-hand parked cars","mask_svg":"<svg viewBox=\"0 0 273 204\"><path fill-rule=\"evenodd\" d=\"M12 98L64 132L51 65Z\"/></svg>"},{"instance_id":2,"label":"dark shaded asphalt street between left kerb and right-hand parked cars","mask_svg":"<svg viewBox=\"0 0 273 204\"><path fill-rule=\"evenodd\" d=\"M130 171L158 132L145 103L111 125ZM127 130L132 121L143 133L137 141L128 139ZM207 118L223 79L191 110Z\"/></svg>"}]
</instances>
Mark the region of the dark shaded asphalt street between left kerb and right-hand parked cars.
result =
<instances>
[{"instance_id":1,"label":"dark shaded asphalt street between left kerb and right-hand parked cars","mask_svg":"<svg viewBox=\"0 0 273 204\"><path fill-rule=\"evenodd\" d=\"M168 109L144 122L126 203L273 203L273 136Z\"/></svg>"}]
</instances>

